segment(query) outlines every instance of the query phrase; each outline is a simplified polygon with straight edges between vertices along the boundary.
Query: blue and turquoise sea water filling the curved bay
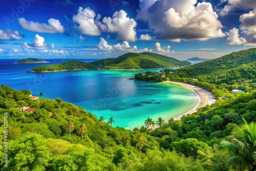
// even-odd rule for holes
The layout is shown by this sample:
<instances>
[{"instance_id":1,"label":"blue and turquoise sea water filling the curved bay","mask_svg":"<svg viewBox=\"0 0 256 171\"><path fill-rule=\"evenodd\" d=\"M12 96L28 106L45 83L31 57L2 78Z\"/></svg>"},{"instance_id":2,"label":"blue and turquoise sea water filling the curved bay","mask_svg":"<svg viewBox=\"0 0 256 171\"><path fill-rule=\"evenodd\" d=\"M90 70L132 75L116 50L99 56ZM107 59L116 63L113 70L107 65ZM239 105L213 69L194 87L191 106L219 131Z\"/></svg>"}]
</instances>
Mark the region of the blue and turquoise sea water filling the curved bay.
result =
<instances>
[{"instance_id":1,"label":"blue and turquoise sea water filling the curved bay","mask_svg":"<svg viewBox=\"0 0 256 171\"><path fill-rule=\"evenodd\" d=\"M129 80L136 73L148 70L26 73L45 64L13 65L13 60L1 60L1 84L16 90L28 89L37 96L42 92L44 96L40 98L60 97L98 118L104 116L106 121L112 116L113 126L125 129L142 126L148 117L155 121L162 117L168 121L190 111L199 102L195 92L177 84Z\"/></svg>"}]
</instances>

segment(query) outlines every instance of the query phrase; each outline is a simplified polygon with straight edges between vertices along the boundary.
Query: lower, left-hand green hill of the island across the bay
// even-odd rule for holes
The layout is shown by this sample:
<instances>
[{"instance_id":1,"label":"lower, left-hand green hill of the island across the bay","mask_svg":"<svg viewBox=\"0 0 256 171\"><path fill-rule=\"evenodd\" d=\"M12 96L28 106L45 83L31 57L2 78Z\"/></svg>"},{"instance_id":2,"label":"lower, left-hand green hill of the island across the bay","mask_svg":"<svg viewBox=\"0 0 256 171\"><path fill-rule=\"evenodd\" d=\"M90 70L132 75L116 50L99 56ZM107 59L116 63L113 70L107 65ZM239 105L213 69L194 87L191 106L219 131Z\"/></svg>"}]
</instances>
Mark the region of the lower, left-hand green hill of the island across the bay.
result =
<instances>
[{"instance_id":1,"label":"lower, left-hand green hill of the island across the bay","mask_svg":"<svg viewBox=\"0 0 256 171\"><path fill-rule=\"evenodd\" d=\"M58 72L58 71L80 71L80 70L97 70L99 69L91 63L81 62L77 60L70 60L63 63L58 63L49 66L40 66L33 68L27 72Z\"/></svg>"}]
</instances>

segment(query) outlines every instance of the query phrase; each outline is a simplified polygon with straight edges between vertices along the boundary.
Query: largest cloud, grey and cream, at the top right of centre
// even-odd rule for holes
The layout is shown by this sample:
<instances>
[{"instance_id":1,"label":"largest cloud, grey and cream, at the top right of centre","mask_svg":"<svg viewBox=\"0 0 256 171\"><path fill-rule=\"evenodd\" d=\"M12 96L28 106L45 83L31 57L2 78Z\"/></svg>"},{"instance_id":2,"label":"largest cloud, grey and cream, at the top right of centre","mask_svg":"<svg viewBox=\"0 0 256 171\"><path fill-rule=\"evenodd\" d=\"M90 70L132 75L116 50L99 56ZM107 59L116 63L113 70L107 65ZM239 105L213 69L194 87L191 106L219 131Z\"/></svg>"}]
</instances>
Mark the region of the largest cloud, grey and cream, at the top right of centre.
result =
<instances>
[{"instance_id":1,"label":"largest cloud, grey and cream, at the top right of centre","mask_svg":"<svg viewBox=\"0 0 256 171\"><path fill-rule=\"evenodd\" d=\"M224 37L218 14L210 3L197 0L140 0L137 18L148 23L156 39L207 40Z\"/></svg>"}]
</instances>

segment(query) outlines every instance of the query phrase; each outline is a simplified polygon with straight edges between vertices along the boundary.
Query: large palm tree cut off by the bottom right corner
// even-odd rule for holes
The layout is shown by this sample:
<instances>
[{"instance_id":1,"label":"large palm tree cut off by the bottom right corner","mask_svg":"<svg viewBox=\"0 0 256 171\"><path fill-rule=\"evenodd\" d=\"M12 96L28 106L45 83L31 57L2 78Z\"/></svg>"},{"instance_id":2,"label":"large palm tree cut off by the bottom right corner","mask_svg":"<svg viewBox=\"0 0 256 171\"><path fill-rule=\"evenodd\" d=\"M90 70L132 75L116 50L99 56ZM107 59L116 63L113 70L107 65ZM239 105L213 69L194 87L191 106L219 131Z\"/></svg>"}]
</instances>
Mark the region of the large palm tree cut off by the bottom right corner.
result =
<instances>
[{"instance_id":1,"label":"large palm tree cut off by the bottom right corner","mask_svg":"<svg viewBox=\"0 0 256 171\"><path fill-rule=\"evenodd\" d=\"M238 126L234 124L230 141L222 141L232 157L227 166L237 166L239 170L256 170L256 123L247 123Z\"/></svg>"}]
</instances>

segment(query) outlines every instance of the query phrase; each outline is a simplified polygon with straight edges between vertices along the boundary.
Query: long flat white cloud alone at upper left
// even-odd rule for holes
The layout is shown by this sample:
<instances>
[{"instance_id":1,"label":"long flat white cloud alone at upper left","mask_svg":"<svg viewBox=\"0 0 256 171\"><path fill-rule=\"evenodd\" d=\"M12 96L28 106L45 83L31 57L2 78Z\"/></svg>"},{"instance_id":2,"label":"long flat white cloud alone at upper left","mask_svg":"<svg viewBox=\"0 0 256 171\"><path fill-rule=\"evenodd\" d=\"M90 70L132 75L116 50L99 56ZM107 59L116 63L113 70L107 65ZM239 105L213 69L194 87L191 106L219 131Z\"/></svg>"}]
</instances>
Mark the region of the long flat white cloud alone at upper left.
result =
<instances>
[{"instance_id":1,"label":"long flat white cloud alone at upper left","mask_svg":"<svg viewBox=\"0 0 256 171\"><path fill-rule=\"evenodd\" d=\"M28 21L25 18L18 18L18 22L23 29L39 33L63 33L65 31L59 20L54 18L48 20L49 25Z\"/></svg>"}]
</instances>

